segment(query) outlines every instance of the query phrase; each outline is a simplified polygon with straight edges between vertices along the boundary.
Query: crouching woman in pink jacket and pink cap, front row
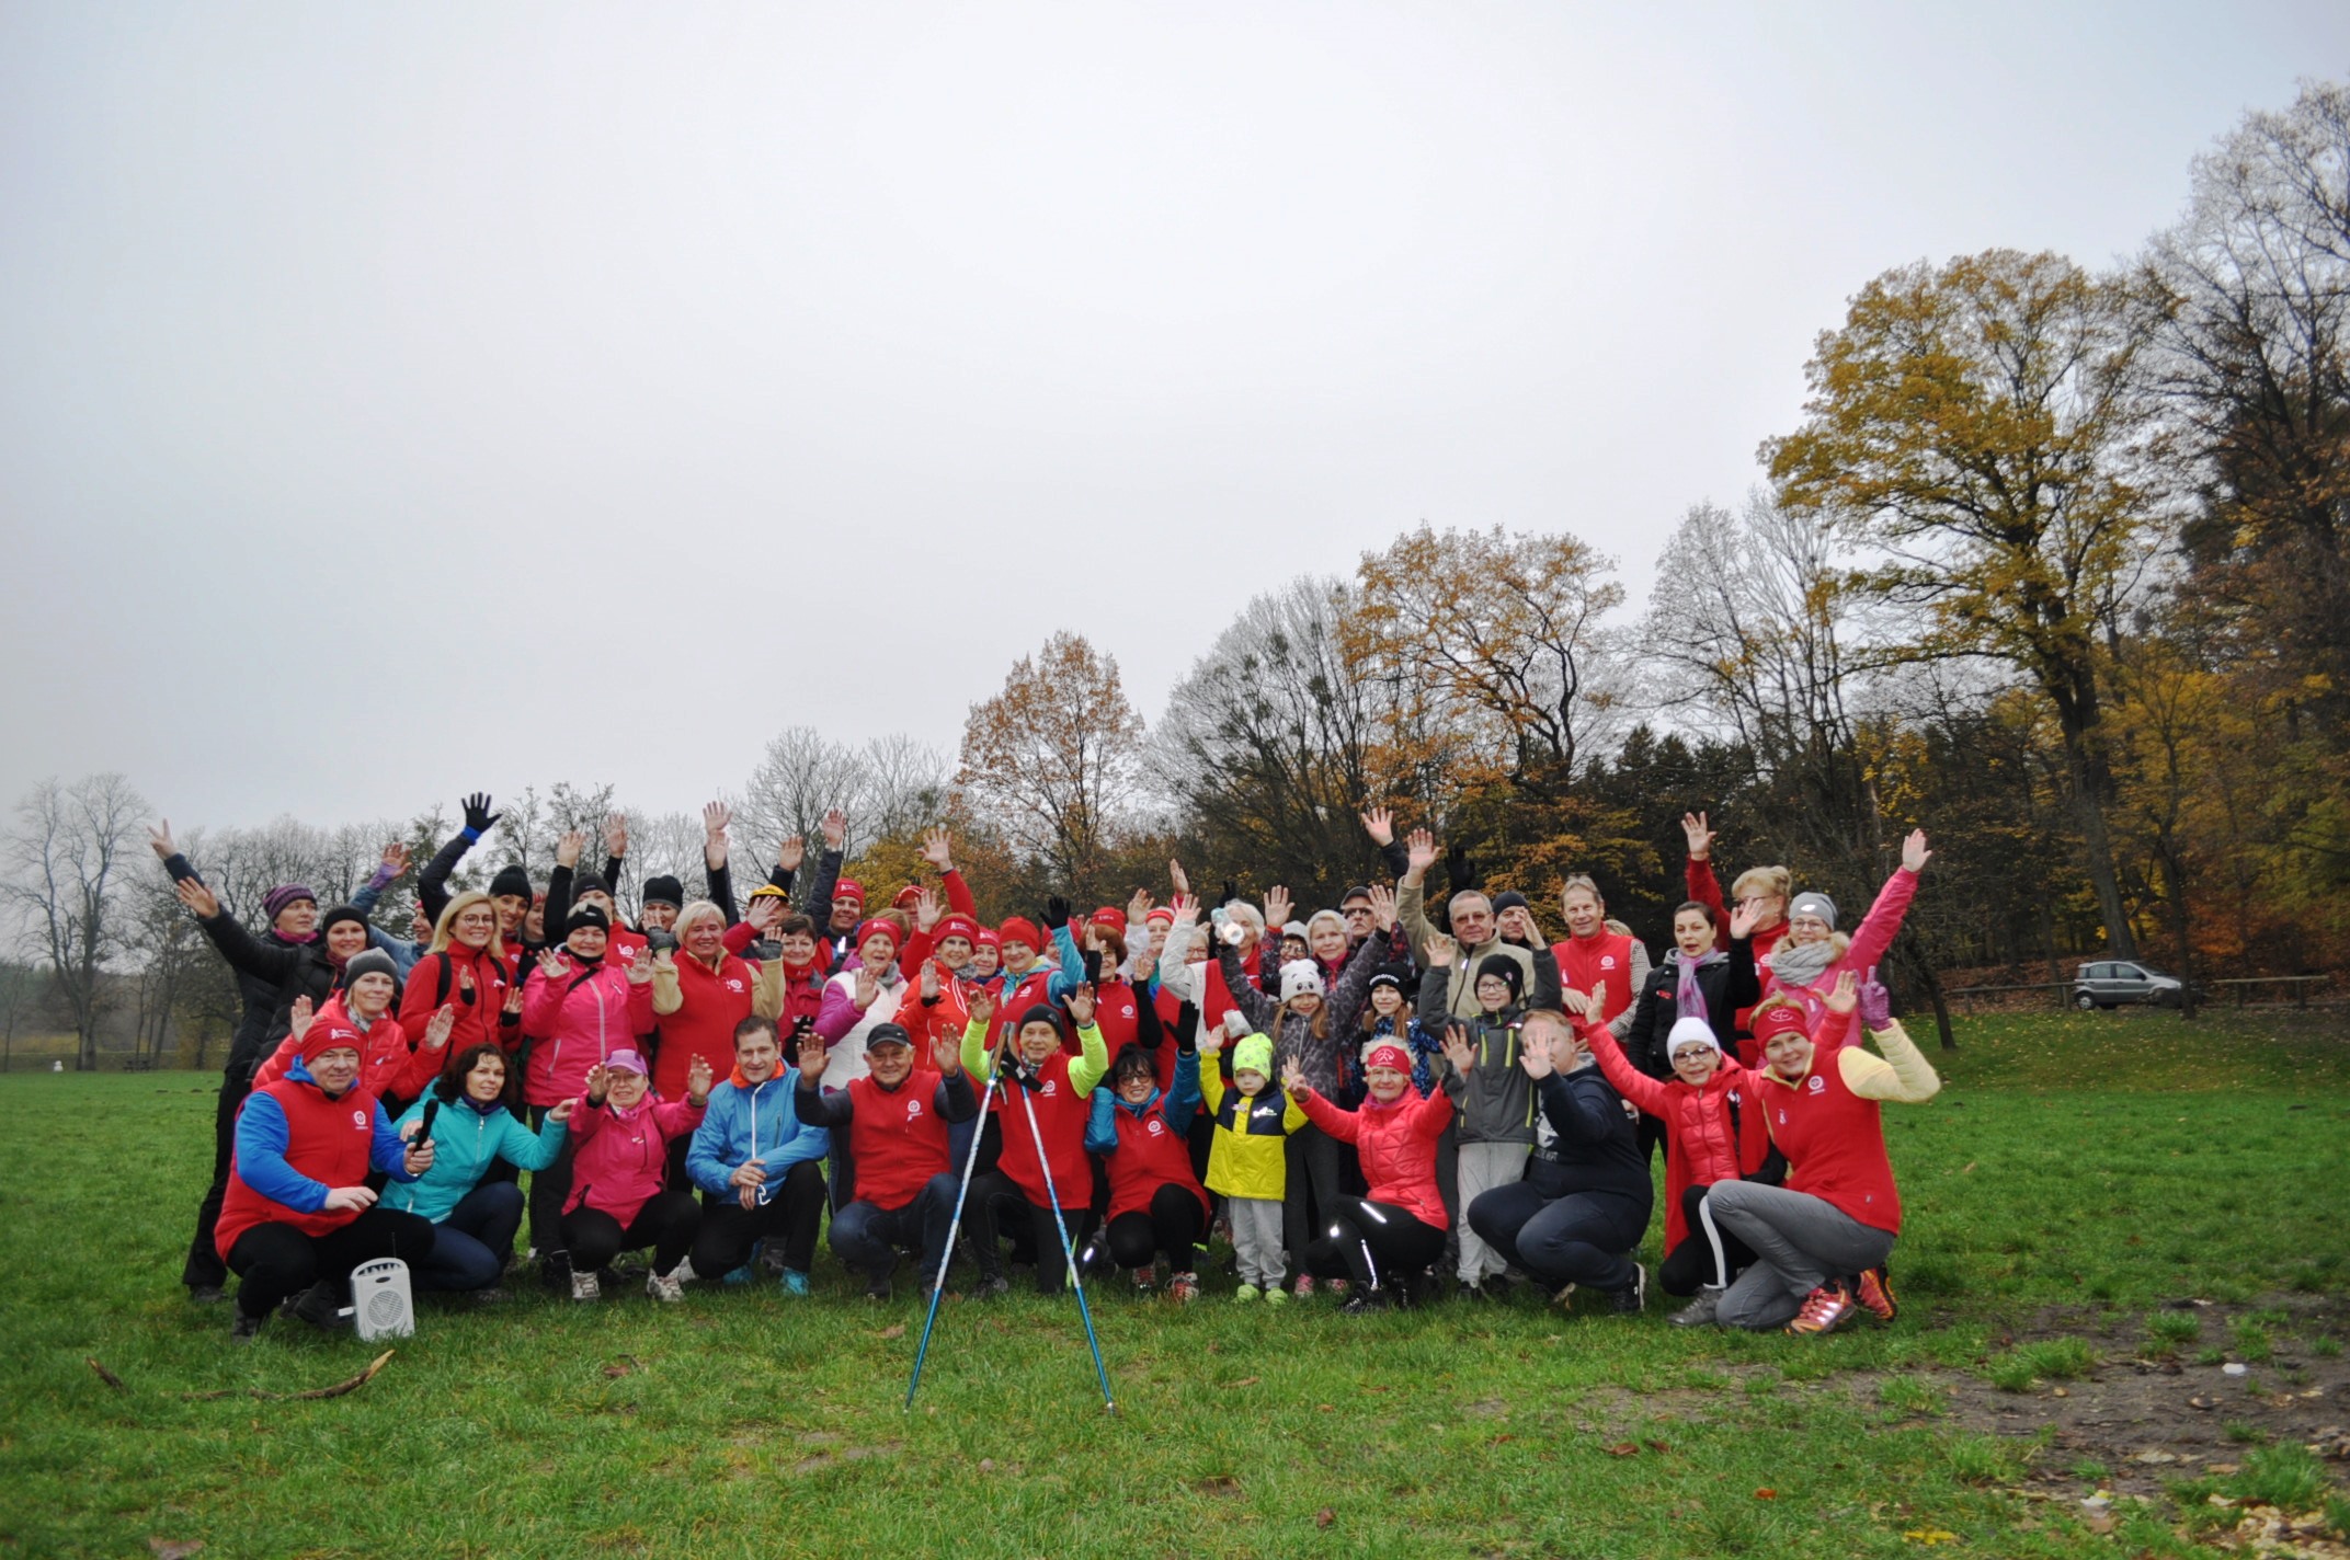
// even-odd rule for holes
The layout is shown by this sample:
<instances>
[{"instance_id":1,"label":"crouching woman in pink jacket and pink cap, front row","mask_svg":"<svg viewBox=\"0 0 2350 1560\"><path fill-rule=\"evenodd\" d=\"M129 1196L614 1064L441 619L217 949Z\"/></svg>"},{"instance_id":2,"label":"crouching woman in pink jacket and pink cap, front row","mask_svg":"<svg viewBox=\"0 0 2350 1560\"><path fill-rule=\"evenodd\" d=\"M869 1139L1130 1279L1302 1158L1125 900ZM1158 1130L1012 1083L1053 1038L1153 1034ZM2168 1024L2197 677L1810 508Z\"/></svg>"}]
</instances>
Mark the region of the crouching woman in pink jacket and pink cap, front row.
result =
<instances>
[{"instance_id":1,"label":"crouching woman in pink jacket and pink cap, front row","mask_svg":"<svg viewBox=\"0 0 2350 1560\"><path fill-rule=\"evenodd\" d=\"M616 1050L588 1069L588 1102L571 1111L571 1198L564 1203L564 1250L571 1252L571 1299L602 1299L597 1271L620 1252L653 1248L644 1292L660 1302L686 1297L693 1269L686 1252L703 1210L691 1191L665 1191L670 1139L703 1125L710 1104L710 1062L693 1060L686 1097L651 1092L644 1057ZM550 1111L552 1114L552 1111Z\"/></svg>"}]
</instances>

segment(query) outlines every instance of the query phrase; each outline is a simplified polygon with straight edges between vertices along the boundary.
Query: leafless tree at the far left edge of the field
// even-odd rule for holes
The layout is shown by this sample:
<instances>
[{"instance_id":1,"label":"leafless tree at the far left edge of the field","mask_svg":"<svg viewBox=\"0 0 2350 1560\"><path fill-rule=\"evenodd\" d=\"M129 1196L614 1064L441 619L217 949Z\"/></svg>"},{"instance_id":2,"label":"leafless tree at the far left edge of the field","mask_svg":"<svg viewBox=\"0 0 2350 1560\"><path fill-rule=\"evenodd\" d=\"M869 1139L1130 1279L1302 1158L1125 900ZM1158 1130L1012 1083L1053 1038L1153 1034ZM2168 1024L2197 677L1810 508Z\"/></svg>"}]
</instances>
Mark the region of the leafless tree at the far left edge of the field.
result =
<instances>
[{"instance_id":1,"label":"leafless tree at the far left edge of the field","mask_svg":"<svg viewBox=\"0 0 2350 1560\"><path fill-rule=\"evenodd\" d=\"M125 949L122 869L146 848L148 806L122 775L42 780L16 803L5 893L33 926L59 1006L73 1022L75 1067L99 1064L108 961Z\"/></svg>"}]
</instances>

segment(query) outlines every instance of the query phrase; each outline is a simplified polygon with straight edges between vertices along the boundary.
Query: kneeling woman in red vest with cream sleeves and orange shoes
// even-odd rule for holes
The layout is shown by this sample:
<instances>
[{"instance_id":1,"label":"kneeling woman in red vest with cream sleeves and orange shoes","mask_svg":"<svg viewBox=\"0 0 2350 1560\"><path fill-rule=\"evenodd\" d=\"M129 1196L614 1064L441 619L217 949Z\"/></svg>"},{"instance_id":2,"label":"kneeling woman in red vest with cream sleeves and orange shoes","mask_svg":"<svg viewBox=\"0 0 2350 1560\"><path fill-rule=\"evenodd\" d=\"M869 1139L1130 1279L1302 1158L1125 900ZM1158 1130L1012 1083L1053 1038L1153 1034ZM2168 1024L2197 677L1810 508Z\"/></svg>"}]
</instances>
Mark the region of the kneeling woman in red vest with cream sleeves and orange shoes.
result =
<instances>
[{"instance_id":1,"label":"kneeling woman in red vest with cream sleeves and orange shoes","mask_svg":"<svg viewBox=\"0 0 2350 1560\"><path fill-rule=\"evenodd\" d=\"M1892 1017L1885 987L1859 984L1852 970L1826 991L1828 1034L1842 1034L1854 1008L1882 1060L1861 1045L1812 1043L1800 1024L1774 1022L1791 1003L1758 1003L1755 1034L1767 1034L1758 1095L1772 1142L1793 1170L1786 1186L1723 1182L1706 1193L1704 1217L1744 1240L1755 1264L1718 1306L1725 1327L1835 1332L1868 1309L1894 1318L1885 1259L1901 1233L1901 1193L1885 1154L1880 1102L1922 1104L1941 1090L1934 1067ZM1821 1062L1826 1062L1821 1067Z\"/></svg>"}]
</instances>

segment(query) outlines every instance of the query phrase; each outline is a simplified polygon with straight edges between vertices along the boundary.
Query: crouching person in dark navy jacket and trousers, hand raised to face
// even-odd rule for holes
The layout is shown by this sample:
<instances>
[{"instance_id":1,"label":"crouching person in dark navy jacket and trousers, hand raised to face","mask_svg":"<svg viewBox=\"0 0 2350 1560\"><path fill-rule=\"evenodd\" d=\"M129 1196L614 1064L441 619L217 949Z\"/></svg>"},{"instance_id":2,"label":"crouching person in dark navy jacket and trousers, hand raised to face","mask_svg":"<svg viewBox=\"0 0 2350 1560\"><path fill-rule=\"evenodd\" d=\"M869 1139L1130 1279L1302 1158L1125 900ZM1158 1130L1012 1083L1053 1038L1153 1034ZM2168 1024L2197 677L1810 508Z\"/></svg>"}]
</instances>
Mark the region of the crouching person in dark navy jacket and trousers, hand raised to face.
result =
<instances>
[{"instance_id":1,"label":"crouching person in dark navy jacket and trousers, hand raised to face","mask_svg":"<svg viewBox=\"0 0 2350 1560\"><path fill-rule=\"evenodd\" d=\"M1654 1189L1647 1161L1591 1053L1556 1010L1525 1015L1518 1064L1535 1081L1539 1132L1525 1179L1469 1203L1488 1245L1565 1297L1579 1285L1607 1295L1617 1313L1647 1304L1647 1271L1633 1262ZM1450 1038L1445 1053L1462 1060Z\"/></svg>"}]
</instances>

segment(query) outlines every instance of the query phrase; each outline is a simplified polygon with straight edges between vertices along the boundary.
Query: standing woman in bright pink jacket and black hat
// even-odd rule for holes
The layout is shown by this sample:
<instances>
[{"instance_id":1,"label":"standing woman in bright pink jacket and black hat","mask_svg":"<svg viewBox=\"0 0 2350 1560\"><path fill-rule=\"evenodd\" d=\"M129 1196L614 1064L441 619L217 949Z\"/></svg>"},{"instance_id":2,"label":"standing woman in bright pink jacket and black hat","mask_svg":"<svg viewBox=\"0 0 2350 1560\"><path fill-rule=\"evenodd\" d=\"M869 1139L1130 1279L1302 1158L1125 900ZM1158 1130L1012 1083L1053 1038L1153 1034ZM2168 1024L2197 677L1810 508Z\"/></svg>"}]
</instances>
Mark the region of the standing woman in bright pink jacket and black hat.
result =
<instances>
[{"instance_id":1,"label":"standing woman in bright pink jacket and black hat","mask_svg":"<svg viewBox=\"0 0 2350 1560\"><path fill-rule=\"evenodd\" d=\"M564 919L564 947L538 954L522 987L522 1100L531 1128L557 1100L578 1100L588 1074L616 1050L634 1050L653 1029L653 956L637 949L627 966L611 963L611 921L595 905ZM578 1116L573 1116L578 1121ZM571 1156L531 1177L531 1245L543 1255L540 1276L559 1290L566 1276L557 1229L571 1193Z\"/></svg>"}]
</instances>

